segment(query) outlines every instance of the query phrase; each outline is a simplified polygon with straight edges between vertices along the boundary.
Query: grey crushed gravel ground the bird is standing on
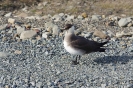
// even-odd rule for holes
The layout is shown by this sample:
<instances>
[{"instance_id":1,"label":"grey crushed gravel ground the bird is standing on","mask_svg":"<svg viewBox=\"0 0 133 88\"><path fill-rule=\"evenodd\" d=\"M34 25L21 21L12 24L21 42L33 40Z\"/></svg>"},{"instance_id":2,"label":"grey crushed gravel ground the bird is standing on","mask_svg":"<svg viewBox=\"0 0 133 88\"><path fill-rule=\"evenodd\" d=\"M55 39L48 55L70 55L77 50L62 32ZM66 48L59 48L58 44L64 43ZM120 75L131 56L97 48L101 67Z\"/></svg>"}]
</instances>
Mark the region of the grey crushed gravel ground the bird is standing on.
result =
<instances>
[{"instance_id":1,"label":"grey crushed gravel ground the bird is standing on","mask_svg":"<svg viewBox=\"0 0 133 88\"><path fill-rule=\"evenodd\" d=\"M41 25L33 20L32 24L36 23ZM61 26L60 22L57 24ZM120 27L107 29L117 31L115 28L121 30ZM0 88L133 88L133 40L130 37L110 40L105 53L84 55L80 64L72 65L74 58L64 49L63 36L42 38L34 43L32 39L18 42L10 39L12 34L9 39L7 36L6 32L0 34ZM7 40L3 41L3 37ZM20 54L15 54L16 50Z\"/></svg>"}]
</instances>

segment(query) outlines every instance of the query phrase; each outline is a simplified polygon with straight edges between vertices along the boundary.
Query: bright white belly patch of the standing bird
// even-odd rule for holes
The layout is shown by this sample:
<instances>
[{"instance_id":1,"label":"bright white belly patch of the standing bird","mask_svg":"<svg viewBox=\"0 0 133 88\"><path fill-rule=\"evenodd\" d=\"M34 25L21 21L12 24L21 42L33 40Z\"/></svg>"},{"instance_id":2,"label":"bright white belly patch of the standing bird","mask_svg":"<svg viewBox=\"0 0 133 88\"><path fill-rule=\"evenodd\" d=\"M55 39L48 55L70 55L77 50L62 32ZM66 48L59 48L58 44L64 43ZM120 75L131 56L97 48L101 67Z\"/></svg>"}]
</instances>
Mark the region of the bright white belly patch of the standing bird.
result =
<instances>
[{"instance_id":1,"label":"bright white belly patch of the standing bird","mask_svg":"<svg viewBox=\"0 0 133 88\"><path fill-rule=\"evenodd\" d=\"M85 54L85 51L80 50L80 49L72 48L71 46L68 45L68 43L66 41L64 41L64 47L70 54L74 54L74 55L83 55L83 54Z\"/></svg>"}]
</instances>

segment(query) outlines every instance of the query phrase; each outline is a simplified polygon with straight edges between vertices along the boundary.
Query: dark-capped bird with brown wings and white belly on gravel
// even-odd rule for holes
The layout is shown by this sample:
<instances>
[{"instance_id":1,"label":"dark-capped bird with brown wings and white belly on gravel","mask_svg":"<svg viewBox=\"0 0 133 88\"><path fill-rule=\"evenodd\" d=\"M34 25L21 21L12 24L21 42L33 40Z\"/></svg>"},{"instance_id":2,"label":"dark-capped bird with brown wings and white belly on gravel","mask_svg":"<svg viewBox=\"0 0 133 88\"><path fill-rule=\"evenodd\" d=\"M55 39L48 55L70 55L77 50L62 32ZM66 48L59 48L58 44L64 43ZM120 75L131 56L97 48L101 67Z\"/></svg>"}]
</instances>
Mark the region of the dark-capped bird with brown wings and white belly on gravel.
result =
<instances>
[{"instance_id":1,"label":"dark-capped bird with brown wings and white belly on gravel","mask_svg":"<svg viewBox=\"0 0 133 88\"><path fill-rule=\"evenodd\" d=\"M92 52L105 52L103 47L108 41L99 43L93 40L88 40L82 36L77 36L74 34L75 26L72 24L66 24L64 29L66 30L63 44L67 52L72 55L76 55L76 59L72 60L72 64L79 64L77 58L81 58L84 54L89 54Z\"/></svg>"}]
</instances>

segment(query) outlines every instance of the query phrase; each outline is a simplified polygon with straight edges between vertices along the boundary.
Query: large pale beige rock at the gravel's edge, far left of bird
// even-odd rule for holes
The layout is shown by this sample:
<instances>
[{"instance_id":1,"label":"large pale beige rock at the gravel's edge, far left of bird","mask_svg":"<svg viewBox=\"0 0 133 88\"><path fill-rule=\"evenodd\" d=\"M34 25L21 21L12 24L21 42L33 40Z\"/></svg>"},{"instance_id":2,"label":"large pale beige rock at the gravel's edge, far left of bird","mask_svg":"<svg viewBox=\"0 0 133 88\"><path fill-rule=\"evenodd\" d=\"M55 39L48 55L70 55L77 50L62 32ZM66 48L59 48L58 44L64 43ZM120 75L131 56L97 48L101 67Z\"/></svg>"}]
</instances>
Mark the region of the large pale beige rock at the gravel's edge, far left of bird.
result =
<instances>
[{"instance_id":1,"label":"large pale beige rock at the gravel's edge, far left of bird","mask_svg":"<svg viewBox=\"0 0 133 88\"><path fill-rule=\"evenodd\" d=\"M20 34L20 39L32 38L32 37L35 36L36 34L37 34L36 31L33 31L33 30L23 31L23 32Z\"/></svg>"}]
</instances>

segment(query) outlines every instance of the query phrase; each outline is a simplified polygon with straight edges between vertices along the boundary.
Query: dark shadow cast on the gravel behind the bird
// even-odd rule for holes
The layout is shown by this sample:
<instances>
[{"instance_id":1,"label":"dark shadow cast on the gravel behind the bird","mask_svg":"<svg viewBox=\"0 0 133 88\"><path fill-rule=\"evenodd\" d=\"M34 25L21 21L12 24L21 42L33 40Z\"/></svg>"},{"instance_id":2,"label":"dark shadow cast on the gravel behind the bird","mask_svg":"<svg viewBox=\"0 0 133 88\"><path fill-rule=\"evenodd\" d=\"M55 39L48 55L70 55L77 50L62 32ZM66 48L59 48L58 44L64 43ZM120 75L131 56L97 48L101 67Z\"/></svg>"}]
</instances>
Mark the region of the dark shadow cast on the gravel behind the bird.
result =
<instances>
[{"instance_id":1,"label":"dark shadow cast on the gravel behind the bird","mask_svg":"<svg viewBox=\"0 0 133 88\"><path fill-rule=\"evenodd\" d=\"M130 60L133 60L133 56L105 56L105 57L96 58L93 61L97 64L110 64L110 63L126 64Z\"/></svg>"}]
</instances>

